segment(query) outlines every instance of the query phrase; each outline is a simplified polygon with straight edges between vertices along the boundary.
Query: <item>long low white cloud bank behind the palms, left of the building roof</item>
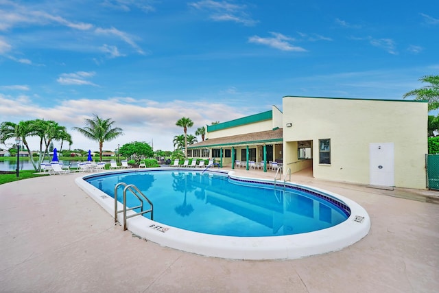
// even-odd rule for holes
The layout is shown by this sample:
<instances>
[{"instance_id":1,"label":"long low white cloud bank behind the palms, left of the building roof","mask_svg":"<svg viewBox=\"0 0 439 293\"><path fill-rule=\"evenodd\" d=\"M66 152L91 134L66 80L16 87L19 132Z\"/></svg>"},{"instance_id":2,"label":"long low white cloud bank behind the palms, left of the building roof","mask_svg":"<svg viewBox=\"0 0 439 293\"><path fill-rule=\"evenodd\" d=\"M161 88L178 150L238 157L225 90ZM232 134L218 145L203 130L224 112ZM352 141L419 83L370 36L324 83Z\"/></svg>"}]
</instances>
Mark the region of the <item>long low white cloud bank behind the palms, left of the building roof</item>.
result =
<instances>
[{"instance_id":1,"label":"long low white cloud bank behind the palms, left of the building roof","mask_svg":"<svg viewBox=\"0 0 439 293\"><path fill-rule=\"evenodd\" d=\"M20 99L20 103L17 103ZM115 141L104 143L104 150L115 150L117 144L123 145L130 141L154 141L154 149L173 150L174 136L182 134L176 121L181 117L189 117L194 122L188 129L189 134L212 121L224 121L224 117L237 119L249 113L242 113L233 106L219 102L185 102L174 100L156 102L148 99L136 99L136 104L128 104L132 97L110 97L109 99L65 99L59 100L49 107L38 106L27 96L3 95L0 93L0 116L4 121L18 123L21 120L46 119L57 121L65 126L72 135L72 149L98 150L95 141L86 139L73 126L84 127L84 119L92 118L96 113L99 117L111 118L115 127L122 128L124 135ZM97 105L93 107L91 105ZM203 109L194 111L193 109ZM270 110L270 108L268 108ZM68 115L66 115L68 113ZM254 114L254 113L250 113ZM200 139L200 137L198 137ZM59 148L59 142L54 142ZM30 143L32 149L38 148L38 141ZM64 149L68 146L64 145Z\"/></svg>"}]
</instances>

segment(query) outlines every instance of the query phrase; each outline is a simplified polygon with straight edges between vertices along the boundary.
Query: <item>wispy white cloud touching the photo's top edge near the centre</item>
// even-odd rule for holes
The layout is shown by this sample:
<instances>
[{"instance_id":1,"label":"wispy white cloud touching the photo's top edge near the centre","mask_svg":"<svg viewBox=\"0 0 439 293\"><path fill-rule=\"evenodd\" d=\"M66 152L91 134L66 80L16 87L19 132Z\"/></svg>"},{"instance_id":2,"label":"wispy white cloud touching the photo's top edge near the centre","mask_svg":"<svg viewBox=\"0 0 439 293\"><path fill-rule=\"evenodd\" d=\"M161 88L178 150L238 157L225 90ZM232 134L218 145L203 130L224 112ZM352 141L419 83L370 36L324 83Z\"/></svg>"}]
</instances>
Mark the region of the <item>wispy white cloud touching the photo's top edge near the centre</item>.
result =
<instances>
[{"instance_id":1,"label":"wispy white cloud touching the photo's top edge near the centre","mask_svg":"<svg viewBox=\"0 0 439 293\"><path fill-rule=\"evenodd\" d=\"M212 1L204 0L198 2L191 2L189 6L202 10L209 14L209 18L213 21L233 21L235 23L242 23L246 26L252 26L257 23L245 11L245 5L236 5L227 1Z\"/></svg>"}]
</instances>

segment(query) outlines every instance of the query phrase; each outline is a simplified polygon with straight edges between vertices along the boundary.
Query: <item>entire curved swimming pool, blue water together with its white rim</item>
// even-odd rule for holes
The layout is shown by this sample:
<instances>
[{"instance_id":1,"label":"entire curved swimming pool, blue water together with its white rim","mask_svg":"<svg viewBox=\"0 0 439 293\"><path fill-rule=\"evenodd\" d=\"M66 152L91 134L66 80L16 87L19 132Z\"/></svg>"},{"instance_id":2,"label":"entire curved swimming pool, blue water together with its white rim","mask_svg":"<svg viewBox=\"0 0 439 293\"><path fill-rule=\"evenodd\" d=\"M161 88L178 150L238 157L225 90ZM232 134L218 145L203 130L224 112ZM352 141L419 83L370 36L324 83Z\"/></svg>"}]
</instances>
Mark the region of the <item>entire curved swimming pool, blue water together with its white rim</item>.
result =
<instances>
[{"instance_id":1,"label":"entire curved swimming pool, blue water together with its white rim","mask_svg":"<svg viewBox=\"0 0 439 293\"><path fill-rule=\"evenodd\" d=\"M181 221L182 218L191 218L193 215L193 219L189 222L198 222L202 224L201 226L211 226L209 223L212 220L207 220L205 217L206 207L218 206L222 209L224 205L231 205L232 209L235 210L227 212L226 216L221 215L214 219L217 222L226 222L226 226L232 227L231 231L227 231L224 235L217 235L222 234L222 232L217 231L201 231L202 233L200 231L189 231L191 228L184 225L178 228L176 227L177 224L168 224L166 220L163 220L169 218L169 213L165 214L165 218L161 220L157 218L160 214L158 211L154 211L155 221L141 216L128 219L128 229L132 233L163 246L200 255L230 259L292 259L340 250L366 236L370 228L369 217L362 207L348 200L348 198L331 194L328 191L287 183L287 189L294 190L294 192L282 194L278 191L277 194L274 194L273 190L270 189L270 192L272 192L270 200L265 198L265 201L268 201L265 206L270 204L275 206L274 210L270 210L261 205L260 200L250 200L250 205L247 202L243 206L243 199L250 198L250 195L245 194L242 196L239 191L241 185L259 185L263 189L267 189L265 187L272 188L274 185L272 180L239 178L233 172L224 174L224 172L209 171L209 173L200 174L193 169L190 172L187 169L166 169L173 174L174 187L172 189L182 193L180 194L180 204L171 204L171 209L168 209L179 215L176 218L177 220L180 219L180 222L184 222ZM202 172L202 169L198 171ZM114 176L107 177L109 174ZM163 168L148 169L147 171L103 172L78 178L77 183L104 209L113 214L114 200L106 193L112 194L111 189L114 189L117 182L126 180L126 183L130 184L136 177L149 178L141 179L137 184L141 185L139 188L143 189L145 194L150 197L150 194L152 196L152 194L160 193L159 190L161 189L165 191L165 194L167 193L167 188L162 187L163 185L169 185L169 183L163 183L161 180L164 174ZM147 176L145 177L145 175ZM86 183L84 180L91 180L95 186ZM106 182L107 180L108 182ZM219 180L219 187L213 191L194 188L195 183L200 183L200 180ZM225 197L217 191L222 189L224 183L229 180L233 180L234 183L239 183L239 185L235 185L236 192L234 196ZM110 188L105 187L107 184ZM189 195L187 193L188 185L189 189L193 189L189 190ZM106 193L99 189L104 189ZM318 195L318 198L311 198L309 196L310 192ZM300 193L304 193L305 197ZM169 197L163 196L163 194L159 194L158 197L163 197L165 202L171 202ZM154 202L154 209L159 210L156 207L160 204L156 204L154 199L152 201ZM299 206L293 206L292 202L298 203ZM244 235L237 234L242 230L241 218L246 218L242 213L248 215L248 209L251 206L252 209L257 209L257 213L251 216L252 221L257 222L257 224L250 226L250 232L245 232ZM329 207L334 209L329 211ZM121 209L121 204L118 209ZM230 213L240 214L239 217L241 218L238 220L233 218L230 222L226 220ZM286 222L287 220L283 217L284 213L290 218L294 218L294 220L303 218L305 223L316 222L315 219L317 218L317 222L324 223L324 226L318 227L318 231L301 230L301 228L297 228L296 223ZM332 221L333 219L335 222ZM327 228L328 225L332 226Z\"/></svg>"}]
</instances>

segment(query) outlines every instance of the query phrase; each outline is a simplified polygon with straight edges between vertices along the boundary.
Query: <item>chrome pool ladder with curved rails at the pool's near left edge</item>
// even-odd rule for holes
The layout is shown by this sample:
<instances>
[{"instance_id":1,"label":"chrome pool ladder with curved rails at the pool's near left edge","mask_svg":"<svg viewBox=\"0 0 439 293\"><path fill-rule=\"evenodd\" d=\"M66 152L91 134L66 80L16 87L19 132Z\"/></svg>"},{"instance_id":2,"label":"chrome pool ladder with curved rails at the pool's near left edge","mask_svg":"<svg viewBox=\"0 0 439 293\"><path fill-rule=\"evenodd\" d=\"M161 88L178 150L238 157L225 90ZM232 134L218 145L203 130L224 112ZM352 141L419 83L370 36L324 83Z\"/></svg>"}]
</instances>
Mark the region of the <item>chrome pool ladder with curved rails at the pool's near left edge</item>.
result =
<instances>
[{"instance_id":1,"label":"chrome pool ladder with curved rails at the pool's near left edge","mask_svg":"<svg viewBox=\"0 0 439 293\"><path fill-rule=\"evenodd\" d=\"M123 209L121 210L117 210L117 187L119 187L120 185L125 186L123 188ZM132 194L134 194L134 196L137 197L137 199L141 202L141 204L139 204L137 207L131 207L131 208L127 208L126 207L126 193L127 191L130 191ZM151 209L148 209L147 211L143 211L143 200L141 198L144 198L151 206ZM141 209L140 213L134 213L133 215L126 215L126 211L131 211L134 209ZM126 227L126 220L132 217L135 217L136 215L143 215L144 213L151 213L151 220L154 220L154 212L153 212L153 205L152 202L149 198L147 198L145 196L145 194L142 193L142 191L139 190L139 188L136 187L136 185L134 184L126 184L126 183L118 183L115 186L115 223L117 223L117 214L123 212L123 231L125 231L127 229Z\"/></svg>"}]
</instances>

